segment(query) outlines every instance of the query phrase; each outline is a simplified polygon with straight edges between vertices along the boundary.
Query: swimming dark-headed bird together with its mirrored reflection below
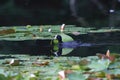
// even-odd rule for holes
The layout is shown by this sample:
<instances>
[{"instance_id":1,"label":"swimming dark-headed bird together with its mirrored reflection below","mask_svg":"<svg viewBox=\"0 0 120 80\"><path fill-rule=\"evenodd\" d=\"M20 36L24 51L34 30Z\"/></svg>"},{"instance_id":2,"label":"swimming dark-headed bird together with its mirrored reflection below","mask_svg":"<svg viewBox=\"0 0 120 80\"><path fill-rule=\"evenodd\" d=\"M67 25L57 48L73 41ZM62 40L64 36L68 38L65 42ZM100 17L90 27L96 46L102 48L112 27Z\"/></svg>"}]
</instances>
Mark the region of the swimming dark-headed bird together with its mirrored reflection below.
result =
<instances>
[{"instance_id":1,"label":"swimming dark-headed bird together with its mirrored reflection below","mask_svg":"<svg viewBox=\"0 0 120 80\"><path fill-rule=\"evenodd\" d=\"M75 41L71 36L63 33L55 35L53 44L53 51L55 56L67 55L77 47L91 46L90 43L82 43L81 41Z\"/></svg>"}]
</instances>

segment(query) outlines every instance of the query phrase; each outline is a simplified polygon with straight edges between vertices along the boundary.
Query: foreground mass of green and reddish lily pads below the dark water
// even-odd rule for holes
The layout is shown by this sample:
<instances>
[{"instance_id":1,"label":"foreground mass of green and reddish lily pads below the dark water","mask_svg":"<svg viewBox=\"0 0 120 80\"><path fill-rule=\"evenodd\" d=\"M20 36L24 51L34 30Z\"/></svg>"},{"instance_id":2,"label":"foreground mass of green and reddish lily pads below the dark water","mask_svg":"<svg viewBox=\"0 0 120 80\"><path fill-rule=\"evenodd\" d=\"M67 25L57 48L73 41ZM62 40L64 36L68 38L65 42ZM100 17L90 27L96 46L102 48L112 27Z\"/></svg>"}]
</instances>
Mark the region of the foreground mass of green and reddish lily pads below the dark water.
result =
<instances>
[{"instance_id":1,"label":"foreground mass of green and reddish lily pads below the dark water","mask_svg":"<svg viewBox=\"0 0 120 80\"><path fill-rule=\"evenodd\" d=\"M120 79L120 55L46 57L0 55L0 80Z\"/></svg>"}]
</instances>

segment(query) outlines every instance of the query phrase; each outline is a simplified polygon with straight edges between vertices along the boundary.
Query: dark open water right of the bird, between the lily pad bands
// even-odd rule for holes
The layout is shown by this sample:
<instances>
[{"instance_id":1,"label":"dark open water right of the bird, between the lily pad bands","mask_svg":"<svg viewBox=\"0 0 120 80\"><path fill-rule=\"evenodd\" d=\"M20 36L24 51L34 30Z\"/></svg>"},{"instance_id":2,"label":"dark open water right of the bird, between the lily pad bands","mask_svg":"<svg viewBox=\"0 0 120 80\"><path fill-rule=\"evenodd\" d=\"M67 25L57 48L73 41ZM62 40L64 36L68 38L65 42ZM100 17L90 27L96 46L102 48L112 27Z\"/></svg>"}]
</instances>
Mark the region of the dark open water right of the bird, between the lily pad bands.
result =
<instances>
[{"instance_id":1,"label":"dark open water right of the bird, between the lily pad bands","mask_svg":"<svg viewBox=\"0 0 120 80\"><path fill-rule=\"evenodd\" d=\"M79 43L67 56L84 57L97 53L105 54L108 49L111 53L120 53L120 32L89 33L77 37L70 34L70 36L74 40L78 40ZM82 44L80 44L80 41L82 41Z\"/></svg>"}]
</instances>

